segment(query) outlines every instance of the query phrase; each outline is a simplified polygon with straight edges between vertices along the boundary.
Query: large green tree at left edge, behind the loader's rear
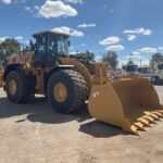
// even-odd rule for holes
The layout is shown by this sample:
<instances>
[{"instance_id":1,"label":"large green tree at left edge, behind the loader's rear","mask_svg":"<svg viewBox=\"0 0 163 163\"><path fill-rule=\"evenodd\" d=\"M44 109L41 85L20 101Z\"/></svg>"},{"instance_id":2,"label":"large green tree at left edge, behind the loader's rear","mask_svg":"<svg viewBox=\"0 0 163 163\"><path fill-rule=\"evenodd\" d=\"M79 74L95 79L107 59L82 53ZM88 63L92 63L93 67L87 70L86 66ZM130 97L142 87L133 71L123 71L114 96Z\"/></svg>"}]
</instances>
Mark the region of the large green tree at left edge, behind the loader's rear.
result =
<instances>
[{"instance_id":1,"label":"large green tree at left edge, behind the loader's rear","mask_svg":"<svg viewBox=\"0 0 163 163\"><path fill-rule=\"evenodd\" d=\"M1 42L0 43L0 65L12 54L18 53L20 50L21 50L20 42L15 39L8 38L3 42Z\"/></svg>"}]
</instances>

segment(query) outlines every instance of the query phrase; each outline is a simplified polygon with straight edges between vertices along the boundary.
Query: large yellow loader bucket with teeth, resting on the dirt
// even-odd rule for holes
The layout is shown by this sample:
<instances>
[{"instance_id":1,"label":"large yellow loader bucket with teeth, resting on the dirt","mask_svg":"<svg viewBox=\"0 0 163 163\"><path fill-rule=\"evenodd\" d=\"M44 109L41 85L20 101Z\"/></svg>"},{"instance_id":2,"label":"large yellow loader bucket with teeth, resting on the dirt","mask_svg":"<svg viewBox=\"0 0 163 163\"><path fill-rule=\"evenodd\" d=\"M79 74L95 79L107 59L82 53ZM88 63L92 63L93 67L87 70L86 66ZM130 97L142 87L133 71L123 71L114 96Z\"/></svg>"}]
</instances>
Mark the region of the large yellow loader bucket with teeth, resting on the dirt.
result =
<instances>
[{"instance_id":1,"label":"large yellow loader bucket with teeth, resting on the dirt","mask_svg":"<svg viewBox=\"0 0 163 163\"><path fill-rule=\"evenodd\" d=\"M92 85L88 109L97 120L136 135L163 116L154 87L142 76Z\"/></svg>"}]
</instances>

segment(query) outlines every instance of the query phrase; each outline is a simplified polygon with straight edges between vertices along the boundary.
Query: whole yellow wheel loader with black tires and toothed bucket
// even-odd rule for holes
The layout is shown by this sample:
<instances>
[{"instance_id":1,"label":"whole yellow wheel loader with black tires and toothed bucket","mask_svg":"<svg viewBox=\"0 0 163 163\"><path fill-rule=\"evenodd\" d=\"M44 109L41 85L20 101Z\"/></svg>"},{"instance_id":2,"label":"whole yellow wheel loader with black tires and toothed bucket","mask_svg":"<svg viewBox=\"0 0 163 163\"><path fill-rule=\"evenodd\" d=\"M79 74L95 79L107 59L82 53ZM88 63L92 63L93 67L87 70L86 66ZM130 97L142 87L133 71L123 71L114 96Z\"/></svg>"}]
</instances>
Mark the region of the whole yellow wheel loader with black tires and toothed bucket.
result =
<instances>
[{"instance_id":1,"label":"whole yellow wheel loader with black tires and toothed bucket","mask_svg":"<svg viewBox=\"0 0 163 163\"><path fill-rule=\"evenodd\" d=\"M60 113L74 113L88 101L98 121L139 135L163 116L163 106L145 76L109 79L108 65L68 55L68 35L42 32L33 35L32 51L12 55L0 72L0 85L13 103L45 95Z\"/></svg>"}]
</instances>

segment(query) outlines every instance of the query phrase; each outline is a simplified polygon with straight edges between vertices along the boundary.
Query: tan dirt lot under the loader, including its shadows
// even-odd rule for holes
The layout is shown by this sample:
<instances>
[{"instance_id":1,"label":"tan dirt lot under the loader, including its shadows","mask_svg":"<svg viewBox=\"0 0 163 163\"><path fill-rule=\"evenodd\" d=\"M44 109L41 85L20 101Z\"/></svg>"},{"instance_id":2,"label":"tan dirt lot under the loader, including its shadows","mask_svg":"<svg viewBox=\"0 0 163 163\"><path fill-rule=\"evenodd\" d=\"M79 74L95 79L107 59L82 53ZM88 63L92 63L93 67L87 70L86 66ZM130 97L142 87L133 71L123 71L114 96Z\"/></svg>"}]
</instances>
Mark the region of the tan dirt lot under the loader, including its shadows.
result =
<instances>
[{"instance_id":1,"label":"tan dirt lot under the loader, including its shadows","mask_svg":"<svg viewBox=\"0 0 163 163\"><path fill-rule=\"evenodd\" d=\"M86 109L61 115L40 98L12 104L0 89L0 163L163 163L163 121L134 136Z\"/></svg>"}]
</instances>

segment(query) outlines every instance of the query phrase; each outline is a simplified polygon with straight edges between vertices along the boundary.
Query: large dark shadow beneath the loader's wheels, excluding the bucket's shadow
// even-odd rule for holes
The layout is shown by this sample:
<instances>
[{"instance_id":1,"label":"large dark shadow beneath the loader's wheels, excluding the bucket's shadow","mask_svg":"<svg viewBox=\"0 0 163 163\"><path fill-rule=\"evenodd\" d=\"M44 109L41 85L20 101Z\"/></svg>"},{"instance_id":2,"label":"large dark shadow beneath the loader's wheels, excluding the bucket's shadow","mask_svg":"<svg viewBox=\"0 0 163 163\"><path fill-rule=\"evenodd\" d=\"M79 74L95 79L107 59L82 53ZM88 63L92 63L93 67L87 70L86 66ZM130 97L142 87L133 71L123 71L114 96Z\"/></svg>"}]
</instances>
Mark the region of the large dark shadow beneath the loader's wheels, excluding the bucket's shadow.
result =
<instances>
[{"instance_id":1,"label":"large dark shadow beneath the loader's wheels, excluding the bucket's shadow","mask_svg":"<svg viewBox=\"0 0 163 163\"><path fill-rule=\"evenodd\" d=\"M84 122L91 118L87 111L87 106L83 108L75 114L57 113L46 98L36 98L26 104L11 103L7 98L0 98L0 118L27 114L26 120L30 122L41 122L49 124L60 124L71 121ZM20 120L16 123L23 122Z\"/></svg>"}]
</instances>

